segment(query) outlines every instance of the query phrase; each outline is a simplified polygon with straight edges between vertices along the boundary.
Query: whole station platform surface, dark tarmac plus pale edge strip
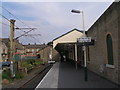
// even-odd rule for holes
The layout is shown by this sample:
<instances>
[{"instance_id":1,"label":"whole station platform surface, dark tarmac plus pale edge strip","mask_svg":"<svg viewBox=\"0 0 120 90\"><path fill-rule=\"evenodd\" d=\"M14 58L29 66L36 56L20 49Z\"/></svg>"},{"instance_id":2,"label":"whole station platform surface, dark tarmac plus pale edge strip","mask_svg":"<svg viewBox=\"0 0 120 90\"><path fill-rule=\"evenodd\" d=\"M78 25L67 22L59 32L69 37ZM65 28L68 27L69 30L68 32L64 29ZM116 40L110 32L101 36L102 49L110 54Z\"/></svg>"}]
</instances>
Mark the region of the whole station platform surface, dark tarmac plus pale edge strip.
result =
<instances>
[{"instance_id":1,"label":"whole station platform surface, dark tarmac plus pale edge strip","mask_svg":"<svg viewBox=\"0 0 120 90\"><path fill-rule=\"evenodd\" d=\"M118 85L88 71L88 81L84 81L84 70L70 62L57 62L40 81L40 88L118 88Z\"/></svg>"}]
</instances>

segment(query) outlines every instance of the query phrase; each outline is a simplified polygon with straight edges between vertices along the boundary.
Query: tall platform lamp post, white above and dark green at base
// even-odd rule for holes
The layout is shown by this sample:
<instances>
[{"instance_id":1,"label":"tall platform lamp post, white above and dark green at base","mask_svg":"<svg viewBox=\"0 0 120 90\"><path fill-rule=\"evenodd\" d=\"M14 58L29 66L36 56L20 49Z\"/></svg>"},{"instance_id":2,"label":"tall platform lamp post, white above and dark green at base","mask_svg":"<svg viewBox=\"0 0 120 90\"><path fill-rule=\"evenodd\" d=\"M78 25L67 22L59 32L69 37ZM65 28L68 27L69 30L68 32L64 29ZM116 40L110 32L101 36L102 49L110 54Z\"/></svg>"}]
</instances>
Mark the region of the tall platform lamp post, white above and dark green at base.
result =
<instances>
[{"instance_id":1,"label":"tall platform lamp post, white above and dark green at base","mask_svg":"<svg viewBox=\"0 0 120 90\"><path fill-rule=\"evenodd\" d=\"M84 26L84 13L83 11L80 10L71 10L72 13L82 13L82 20L83 20L83 34L84 37L86 37L85 34L85 26ZM87 81L87 62L86 62L86 47L83 46L83 51L84 51L84 71L85 71L85 81Z\"/></svg>"}]
</instances>

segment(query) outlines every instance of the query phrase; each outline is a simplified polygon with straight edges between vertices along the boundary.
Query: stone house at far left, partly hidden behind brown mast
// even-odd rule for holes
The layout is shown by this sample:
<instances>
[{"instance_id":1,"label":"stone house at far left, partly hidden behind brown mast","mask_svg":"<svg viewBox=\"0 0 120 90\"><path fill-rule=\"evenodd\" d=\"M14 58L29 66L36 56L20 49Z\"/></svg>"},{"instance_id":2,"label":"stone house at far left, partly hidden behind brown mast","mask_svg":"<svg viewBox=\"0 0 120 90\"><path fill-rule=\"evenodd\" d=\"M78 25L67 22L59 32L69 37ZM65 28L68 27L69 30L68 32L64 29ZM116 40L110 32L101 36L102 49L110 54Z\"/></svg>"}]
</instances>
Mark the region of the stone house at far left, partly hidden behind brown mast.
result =
<instances>
[{"instance_id":1,"label":"stone house at far left, partly hidden behind brown mast","mask_svg":"<svg viewBox=\"0 0 120 90\"><path fill-rule=\"evenodd\" d=\"M15 53L14 55L21 53L24 54L25 47L19 43L18 40L15 40ZM9 60L10 59L10 39L9 38L0 38L0 60Z\"/></svg>"}]
</instances>

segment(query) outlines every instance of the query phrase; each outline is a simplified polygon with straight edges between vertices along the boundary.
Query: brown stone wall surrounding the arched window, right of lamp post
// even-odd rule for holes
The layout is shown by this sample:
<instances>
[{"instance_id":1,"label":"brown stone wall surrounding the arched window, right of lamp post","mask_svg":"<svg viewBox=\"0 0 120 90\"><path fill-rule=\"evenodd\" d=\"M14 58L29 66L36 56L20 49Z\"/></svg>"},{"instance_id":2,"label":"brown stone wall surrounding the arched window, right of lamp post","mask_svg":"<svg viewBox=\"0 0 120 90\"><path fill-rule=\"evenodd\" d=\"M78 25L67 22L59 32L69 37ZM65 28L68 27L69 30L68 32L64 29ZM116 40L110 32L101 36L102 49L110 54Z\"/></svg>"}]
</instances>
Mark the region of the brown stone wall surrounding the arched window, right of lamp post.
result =
<instances>
[{"instance_id":1,"label":"brown stone wall surrounding the arched window, right of lamp post","mask_svg":"<svg viewBox=\"0 0 120 90\"><path fill-rule=\"evenodd\" d=\"M95 45L89 47L88 68L111 80L112 82L118 83L118 66L120 65L118 52L120 52L120 45L118 45L118 38L120 35L120 2L113 3L103 15L90 27L87 35L95 39ZM110 34L113 42L113 67L107 66L107 35ZM119 51L118 51L119 50ZM119 65L118 65L119 64Z\"/></svg>"}]
</instances>

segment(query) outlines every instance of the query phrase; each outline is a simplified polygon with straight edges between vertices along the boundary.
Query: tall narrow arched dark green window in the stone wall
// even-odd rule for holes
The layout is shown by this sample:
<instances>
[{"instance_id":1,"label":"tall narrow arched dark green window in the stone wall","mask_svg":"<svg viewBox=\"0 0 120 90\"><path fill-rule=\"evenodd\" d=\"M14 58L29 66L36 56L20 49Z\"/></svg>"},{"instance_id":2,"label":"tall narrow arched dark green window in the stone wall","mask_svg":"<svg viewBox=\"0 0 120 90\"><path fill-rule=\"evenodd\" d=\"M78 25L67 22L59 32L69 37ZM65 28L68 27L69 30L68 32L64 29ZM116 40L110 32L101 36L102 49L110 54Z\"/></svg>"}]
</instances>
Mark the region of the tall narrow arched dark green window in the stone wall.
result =
<instances>
[{"instance_id":1,"label":"tall narrow arched dark green window in the stone wall","mask_svg":"<svg viewBox=\"0 0 120 90\"><path fill-rule=\"evenodd\" d=\"M112 37L110 34L107 35L106 38L107 42L107 57L108 57L108 64L113 65L113 44L112 44Z\"/></svg>"}]
</instances>

